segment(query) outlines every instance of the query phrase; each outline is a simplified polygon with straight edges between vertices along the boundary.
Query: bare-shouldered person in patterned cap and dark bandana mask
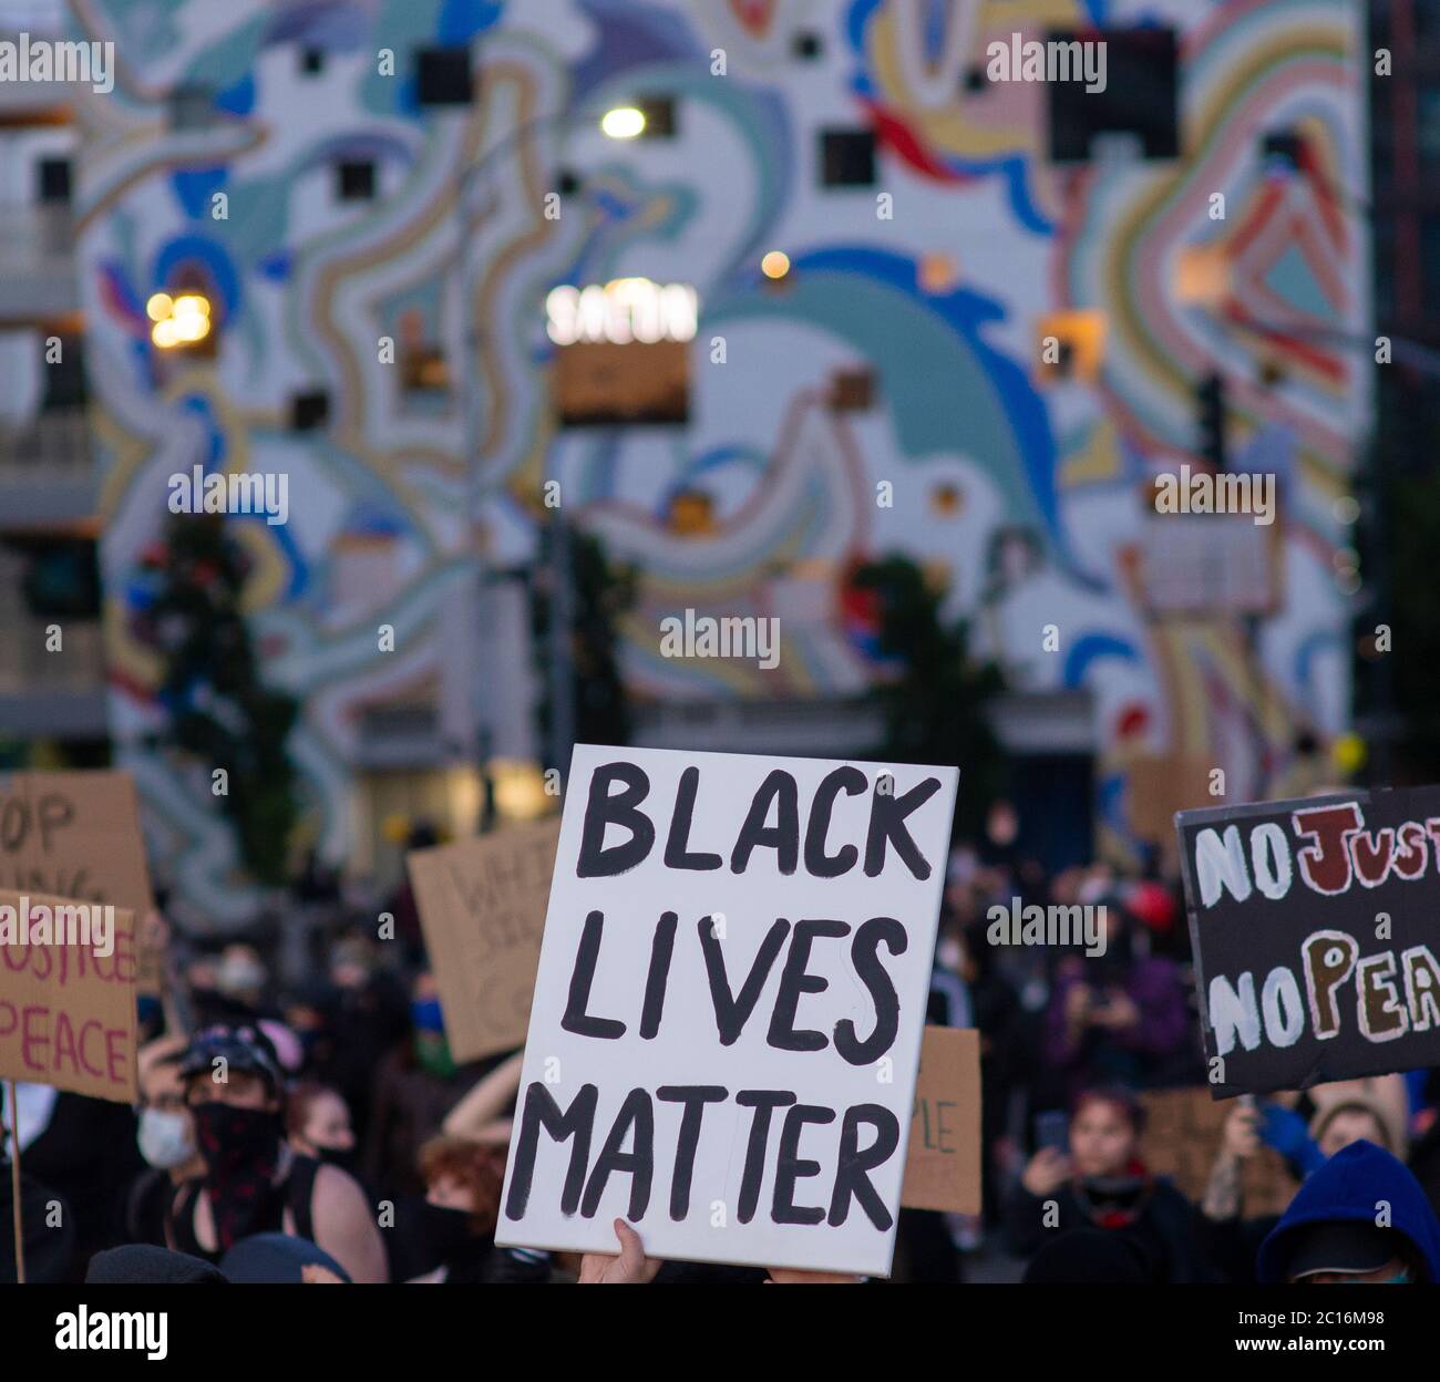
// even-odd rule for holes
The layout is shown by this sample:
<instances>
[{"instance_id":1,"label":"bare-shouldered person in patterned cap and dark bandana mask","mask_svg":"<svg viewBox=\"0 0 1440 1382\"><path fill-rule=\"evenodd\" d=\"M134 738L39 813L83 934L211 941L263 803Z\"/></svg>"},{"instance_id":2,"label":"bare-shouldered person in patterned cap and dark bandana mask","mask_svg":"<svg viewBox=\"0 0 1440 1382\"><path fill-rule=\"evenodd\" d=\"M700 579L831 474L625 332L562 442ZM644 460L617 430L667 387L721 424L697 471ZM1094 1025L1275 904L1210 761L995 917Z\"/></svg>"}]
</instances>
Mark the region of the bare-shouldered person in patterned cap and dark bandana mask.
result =
<instances>
[{"instance_id":1,"label":"bare-shouldered person in patterned cap and dark bandana mask","mask_svg":"<svg viewBox=\"0 0 1440 1382\"><path fill-rule=\"evenodd\" d=\"M180 1074L204 1175L177 1192L168 1247L217 1263L242 1238L284 1232L317 1244L354 1281L387 1280L364 1192L285 1143L284 1084L256 1028L199 1034Z\"/></svg>"}]
</instances>

